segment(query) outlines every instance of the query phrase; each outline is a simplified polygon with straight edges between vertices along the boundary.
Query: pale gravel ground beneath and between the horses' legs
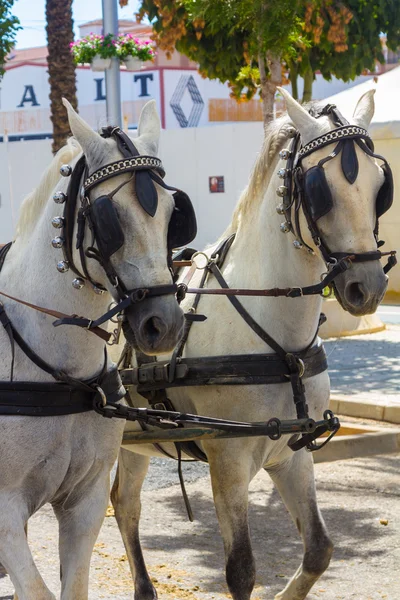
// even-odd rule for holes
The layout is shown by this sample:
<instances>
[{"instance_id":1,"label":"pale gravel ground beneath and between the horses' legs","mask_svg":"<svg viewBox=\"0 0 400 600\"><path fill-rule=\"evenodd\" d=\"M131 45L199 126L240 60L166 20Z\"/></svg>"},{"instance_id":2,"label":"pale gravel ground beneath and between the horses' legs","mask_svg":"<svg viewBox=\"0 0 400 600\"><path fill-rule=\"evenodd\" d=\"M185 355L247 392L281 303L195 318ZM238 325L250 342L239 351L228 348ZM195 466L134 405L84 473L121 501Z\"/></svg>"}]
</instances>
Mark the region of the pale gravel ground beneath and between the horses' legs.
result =
<instances>
[{"instance_id":1,"label":"pale gravel ground beneath and between the horses' legs","mask_svg":"<svg viewBox=\"0 0 400 600\"><path fill-rule=\"evenodd\" d=\"M194 523L186 520L175 470L172 461L157 460L142 495L141 537L159 600L229 598L207 467L185 465ZM310 600L399 600L399 473L399 455L316 465L319 504L336 548ZM302 544L264 473L251 484L250 526L257 563L252 600L273 600L296 570ZM31 519L29 539L41 573L56 592L57 526L49 507ZM0 600L11 598L11 583L3 577ZM128 563L112 516L105 519L95 546L89 598L133 600Z\"/></svg>"}]
</instances>

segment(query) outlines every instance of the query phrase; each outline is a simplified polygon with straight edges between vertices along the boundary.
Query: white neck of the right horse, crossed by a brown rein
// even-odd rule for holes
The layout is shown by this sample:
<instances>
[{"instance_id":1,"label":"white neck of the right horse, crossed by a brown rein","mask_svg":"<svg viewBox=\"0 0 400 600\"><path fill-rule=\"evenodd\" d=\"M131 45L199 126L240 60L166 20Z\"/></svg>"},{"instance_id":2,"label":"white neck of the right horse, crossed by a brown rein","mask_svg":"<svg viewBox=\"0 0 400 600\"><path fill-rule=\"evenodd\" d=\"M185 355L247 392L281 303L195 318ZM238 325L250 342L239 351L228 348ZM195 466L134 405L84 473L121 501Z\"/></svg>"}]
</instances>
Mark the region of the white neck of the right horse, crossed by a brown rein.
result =
<instances>
[{"instance_id":1,"label":"white neck of the right horse, crossed by a brown rein","mask_svg":"<svg viewBox=\"0 0 400 600\"><path fill-rule=\"evenodd\" d=\"M284 164L277 164L274 169ZM276 189L282 180L274 174L263 198L252 199L243 216L235 243L226 261L231 287L304 287L320 281L324 263L319 256L293 246L293 234L279 225L284 217L276 212L280 199ZM240 298L257 322L287 350L307 347L317 331L322 298Z\"/></svg>"}]
</instances>

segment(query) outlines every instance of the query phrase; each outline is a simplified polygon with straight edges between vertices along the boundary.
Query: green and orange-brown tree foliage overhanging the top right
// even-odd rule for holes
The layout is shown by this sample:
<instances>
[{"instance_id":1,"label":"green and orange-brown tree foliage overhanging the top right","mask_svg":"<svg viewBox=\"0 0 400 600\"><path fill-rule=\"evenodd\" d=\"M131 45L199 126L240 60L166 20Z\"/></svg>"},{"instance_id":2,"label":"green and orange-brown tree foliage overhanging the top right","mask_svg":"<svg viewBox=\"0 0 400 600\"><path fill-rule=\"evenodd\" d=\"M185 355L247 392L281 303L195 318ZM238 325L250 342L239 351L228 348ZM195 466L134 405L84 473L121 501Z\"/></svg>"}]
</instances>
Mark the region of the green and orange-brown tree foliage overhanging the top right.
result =
<instances>
[{"instance_id":1,"label":"green and orange-brown tree foliage overhanging the top right","mask_svg":"<svg viewBox=\"0 0 400 600\"><path fill-rule=\"evenodd\" d=\"M120 0L121 6L128 0ZM400 0L141 0L138 18L153 25L158 47L176 48L200 73L228 82L232 96L260 91L264 121L289 70L293 95L304 77L311 99L316 71L348 81L383 62L380 34L400 45ZM281 69L283 65L283 69Z\"/></svg>"}]
</instances>

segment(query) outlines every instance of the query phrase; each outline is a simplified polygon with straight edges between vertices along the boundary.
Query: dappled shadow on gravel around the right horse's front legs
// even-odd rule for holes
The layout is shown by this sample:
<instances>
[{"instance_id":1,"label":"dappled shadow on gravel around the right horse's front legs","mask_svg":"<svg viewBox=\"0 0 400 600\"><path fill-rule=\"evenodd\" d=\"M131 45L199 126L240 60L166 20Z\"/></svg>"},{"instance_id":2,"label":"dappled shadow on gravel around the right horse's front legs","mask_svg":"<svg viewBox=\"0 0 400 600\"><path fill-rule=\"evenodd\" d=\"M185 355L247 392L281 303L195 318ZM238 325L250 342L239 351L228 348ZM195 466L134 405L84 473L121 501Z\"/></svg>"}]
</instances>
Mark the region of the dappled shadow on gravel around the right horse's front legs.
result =
<instances>
[{"instance_id":1,"label":"dappled shadow on gravel around the right horse's front legs","mask_svg":"<svg viewBox=\"0 0 400 600\"><path fill-rule=\"evenodd\" d=\"M382 458L379 465L372 460L369 465L363 466L371 471L373 491L379 492L378 471L384 468L386 473L397 476L399 465L398 461L396 463L391 458ZM267 588L270 598L281 591L295 573L302 560L303 545L277 491L270 487L263 491L262 483L258 483L257 488L250 492L249 521L257 565L257 585ZM335 481L321 478L318 489L319 495L324 497L320 508L335 544L331 565L324 575L324 585L341 577L343 562L374 564L379 558L390 556L390 547L394 548L396 544L396 534L386 529L386 542L382 545L382 528L379 529L376 519L379 495L375 496L374 506L364 506L362 501L363 493L371 494L371 486L358 486L357 478L351 485L345 479ZM383 493L390 495L391 490L387 488ZM393 495L398 495L398 490L393 489ZM164 503L174 518L184 518L179 492L166 498ZM179 533L173 522L169 522L168 516L164 531L158 531L156 537L146 536L145 528L142 528L142 543L154 550L168 548L171 557L174 553L186 551L187 555L195 557L193 564L204 567L208 573L202 577L202 588L211 594L227 593L223 546L214 504L207 492L196 494L191 498L191 503L195 518L198 519L198 526L192 533ZM264 592L261 593L264 598ZM259 597L256 593L255 596Z\"/></svg>"}]
</instances>

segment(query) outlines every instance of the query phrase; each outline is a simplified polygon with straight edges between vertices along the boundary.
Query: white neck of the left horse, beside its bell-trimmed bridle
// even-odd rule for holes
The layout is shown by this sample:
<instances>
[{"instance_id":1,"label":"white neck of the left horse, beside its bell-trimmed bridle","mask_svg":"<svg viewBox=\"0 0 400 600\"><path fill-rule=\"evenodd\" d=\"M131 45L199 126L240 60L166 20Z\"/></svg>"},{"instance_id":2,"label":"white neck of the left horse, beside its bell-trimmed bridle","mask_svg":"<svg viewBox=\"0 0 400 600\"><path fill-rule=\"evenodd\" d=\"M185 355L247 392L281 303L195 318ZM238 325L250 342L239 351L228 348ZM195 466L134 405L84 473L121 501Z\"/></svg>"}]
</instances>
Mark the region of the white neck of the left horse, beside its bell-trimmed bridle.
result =
<instances>
[{"instance_id":1,"label":"white neck of the left horse, beside its bell-trimmed bridle","mask_svg":"<svg viewBox=\"0 0 400 600\"><path fill-rule=\"evenodd\" d=\"M63 190L67 182L60 183L57 189ZM52 227L51 219L61 212L60 206L49 200L29 239L26 234L16 239L4 263L0 289L38 306L97 318L106 311L110 295L97 295L88 284L75 290L71 285L75 277L72 270L61 274L56 269L63 256L61 249L51 247L52 238L59 234L59 230ZM75 326L55 328L53 317L7 298L4 304L20 335L54 368L62 368L73 377L89 378L103 366L104 342L94 334ZM7 338L5 340L7 344ZM18 372L16 376L18 378Z\"/></svg>"}]
</instances>

